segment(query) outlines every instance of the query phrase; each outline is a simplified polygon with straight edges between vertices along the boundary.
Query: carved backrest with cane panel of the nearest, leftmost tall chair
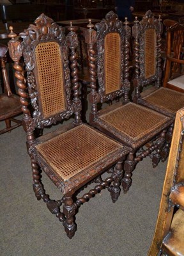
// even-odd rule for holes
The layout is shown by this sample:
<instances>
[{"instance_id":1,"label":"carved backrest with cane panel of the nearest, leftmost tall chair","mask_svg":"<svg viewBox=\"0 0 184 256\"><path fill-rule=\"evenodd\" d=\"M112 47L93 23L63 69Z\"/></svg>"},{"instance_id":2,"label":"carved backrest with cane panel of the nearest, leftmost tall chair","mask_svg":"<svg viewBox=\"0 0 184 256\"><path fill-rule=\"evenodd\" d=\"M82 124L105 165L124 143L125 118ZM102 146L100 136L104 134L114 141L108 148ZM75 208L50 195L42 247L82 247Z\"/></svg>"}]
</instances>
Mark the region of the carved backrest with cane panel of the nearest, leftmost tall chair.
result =
<instances>
[{"instance_id":1,"label":"carved backrest with cane panel of the nearest, leftmost tall chair","mask_svg":"<svg viewBox=\"0 0 184 256\"><path fill-rule=\"evenodd\" d=\"M71 26L67 36L53 20L42 14L35 20L35 25L20 33L22 42L10 33L10 56L15 61L17 85L24 113L26 130L43 128L56 124L75 113L75 122L80 122L79 85L77 83L77 35ZM16 49L15 49L16 48ZM70 49L70 50L69 50ZM71 52L73 74L73 99L71 92L68 52ZM23 56L27 86L24 82L24 70L19 60ZM27 89L27 90L26 90ZM27 108L29 99L33 113ZM79 108L79 111L77 111ZM31 128L30 128L31 126ZM31 131L30 130L30 131Z\"/></svg>"}]
</instances>

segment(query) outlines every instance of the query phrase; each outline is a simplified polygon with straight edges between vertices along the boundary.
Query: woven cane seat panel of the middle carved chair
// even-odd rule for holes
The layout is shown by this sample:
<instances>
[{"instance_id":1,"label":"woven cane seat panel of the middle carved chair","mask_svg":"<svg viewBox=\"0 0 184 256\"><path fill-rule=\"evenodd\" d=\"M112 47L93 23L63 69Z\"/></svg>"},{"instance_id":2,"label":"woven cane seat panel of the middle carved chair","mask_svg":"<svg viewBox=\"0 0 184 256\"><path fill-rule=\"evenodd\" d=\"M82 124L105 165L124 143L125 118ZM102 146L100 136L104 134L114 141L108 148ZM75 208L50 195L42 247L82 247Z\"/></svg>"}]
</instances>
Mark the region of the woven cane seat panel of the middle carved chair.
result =
<instances>
[{"instance_id":1,"label":"woven cane seat panel of the middle carved chair","mask_svg":"<svg viewBox=\"0 0 184 256\"><path fill-rule=\"evenodd\" d=\"M104 120L112 129L115 128L132 140L139 140L160 125L162 126L168 118L151 109L128 103L100 116L100 119Z\"/></svg>"}]
</instances>

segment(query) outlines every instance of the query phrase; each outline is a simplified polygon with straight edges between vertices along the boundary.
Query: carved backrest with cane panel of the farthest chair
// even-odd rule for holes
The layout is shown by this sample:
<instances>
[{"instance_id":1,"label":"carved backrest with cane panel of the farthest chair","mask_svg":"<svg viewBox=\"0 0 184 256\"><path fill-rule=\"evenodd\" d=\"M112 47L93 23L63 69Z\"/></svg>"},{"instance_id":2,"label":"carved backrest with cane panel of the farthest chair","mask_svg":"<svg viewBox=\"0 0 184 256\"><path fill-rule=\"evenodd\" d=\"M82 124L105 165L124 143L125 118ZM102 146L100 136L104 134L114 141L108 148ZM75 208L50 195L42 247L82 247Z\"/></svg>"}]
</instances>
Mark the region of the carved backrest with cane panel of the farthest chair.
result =
<instances>
[{"instance_id":1,"label":"carved backrest with cane panel of the farthest chair","mask_svg":"<svg viewBox=\"0 0 184 256\"><path fill-rule=\"evenodd\" d=\"M132 27L135 56L135 97L139 97L140 86L155 82L160 87L162 20L155 19L149 10L139 22L135 18Z\"/></svg>"}]
</instances>

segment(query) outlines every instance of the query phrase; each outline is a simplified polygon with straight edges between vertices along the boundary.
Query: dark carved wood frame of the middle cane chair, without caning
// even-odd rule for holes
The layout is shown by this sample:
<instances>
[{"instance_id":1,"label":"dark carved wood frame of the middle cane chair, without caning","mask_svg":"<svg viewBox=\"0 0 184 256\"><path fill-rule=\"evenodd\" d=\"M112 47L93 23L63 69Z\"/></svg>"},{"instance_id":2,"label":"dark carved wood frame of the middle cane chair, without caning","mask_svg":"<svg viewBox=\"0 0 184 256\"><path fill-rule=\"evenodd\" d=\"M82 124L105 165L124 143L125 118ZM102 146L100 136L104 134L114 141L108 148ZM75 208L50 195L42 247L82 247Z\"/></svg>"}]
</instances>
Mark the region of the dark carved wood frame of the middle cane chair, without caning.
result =
<instances>
[{"instance_id":1,"label":"dark carved wood frame of the middle cane chair, without caning","mask_svg":"<svg viewBox=\"0 0 184 256\"><path fill-rule=\"evenodd\" d=\"M132 152L128 154L127 160L125 161L124 170L125 176L122 180L122 186L125 193L127 193L128 189L132 184L132 172L135 168L135 165L141 161L146 156L151 156L153 161L153 167L157 166L160 159L165 161L169 152L169 143L164 147L165 143L165 129L168 129L172 124L173 119L168 118L162 127L157 127L155 131L150 132L149 134L144 134L144 138L141 140L133 141L130 137L123 134L123 132L118 132L111 125L105 124L102 119L99 117L105 113L110 113L115 109L122 106L122 104L127 104L128 92L130 90L130 81L128 81L128 72L129 72L129 47L130 47L130 26L128 25L127 20L124 22L124 26L120 20L118 20L118 16L114 12L107 13L104 20L100 22L100 24L96 24L95 28L98 29L98 33L96 35L95 29L93 29L93 24L89 22L88 24L88 33L86 33L86 42L88 43L88 55L89 55L89 73L91 74L91 92L89 94L89 100L91 102L91 113L89 115L89 124L93 125L100 131L108 134L112 138L120 141L121 143L126 143L130 147L134 148ZM121 35L122 45L121 45L121 61L123 64L121 65L121 88L117 92L109 93L109 95L105 95L105 85L104 85L104 58L103 58L103 49L102 45L104 45L104 36L111 31L118 31ZM97 53L94 50L94 45L97 42ZM96 55L97 56L96 56ZM97 68L95 67L95 56L97 59ZM96 85L96 70L97 70L97 78L99 87ZM122 102L118 102L109 106L108 108L100 109L98 111L98 103L103 103L109 101L110 104L112 100L119 99L123 95ZM164 116L163 116L164 117ZM134 124L134 120L132 120L132 125ZM167 134L168 138L171 138L172 130L169 129ZM152 143L151 146L146 150L141 150L141 154L137 154L135 156L135 152L137 152L145 143L148 143L151 139L155 138L155 143ZM154 154L153 152L156 151ZM162 154L163 153L163 154ZM161 157L162 155L162 157Z\"/></svg>"}]
</instances>

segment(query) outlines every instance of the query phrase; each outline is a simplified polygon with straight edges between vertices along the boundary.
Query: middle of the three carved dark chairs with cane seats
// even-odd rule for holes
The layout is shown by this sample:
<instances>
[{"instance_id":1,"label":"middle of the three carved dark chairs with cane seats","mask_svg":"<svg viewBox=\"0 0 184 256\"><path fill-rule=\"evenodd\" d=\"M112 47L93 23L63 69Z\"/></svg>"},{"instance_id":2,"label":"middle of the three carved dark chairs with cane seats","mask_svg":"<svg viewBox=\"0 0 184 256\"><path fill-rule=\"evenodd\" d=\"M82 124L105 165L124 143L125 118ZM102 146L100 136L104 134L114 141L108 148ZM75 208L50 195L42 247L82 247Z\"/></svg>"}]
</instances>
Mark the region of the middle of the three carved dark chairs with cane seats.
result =
<instances>
[{"instance_id":1,"label":"middle of the three carved dark chairs with cane seats","mask_svg":"<svg viewBox=\"0 0 184 256\"><path fill-rule=\"evenodd\" d=\"M153 165L158 164L162 143L165 140L165 129L173 122L173 119L128 102L130 90L128 81L130 27L128 22L123 24L111 11L107 13L105 19L95 25L96 30L90 23L88 28L86 42L88 43L91 74L89 123L133 148L124 165L125 176L122 184L124 191L127 192L132 182L132 171L137 162L154 152ZM95 44L97 52L94 49ZM119 102L114 102L114 100L119 100ZM110 102L111 105L108 106L105 102ZM98 111L100 103L102 109ZM158 138L155 144L136 156L137 150L156 136Z\"/></svg>"}]
</instances>

